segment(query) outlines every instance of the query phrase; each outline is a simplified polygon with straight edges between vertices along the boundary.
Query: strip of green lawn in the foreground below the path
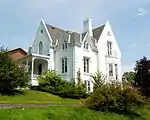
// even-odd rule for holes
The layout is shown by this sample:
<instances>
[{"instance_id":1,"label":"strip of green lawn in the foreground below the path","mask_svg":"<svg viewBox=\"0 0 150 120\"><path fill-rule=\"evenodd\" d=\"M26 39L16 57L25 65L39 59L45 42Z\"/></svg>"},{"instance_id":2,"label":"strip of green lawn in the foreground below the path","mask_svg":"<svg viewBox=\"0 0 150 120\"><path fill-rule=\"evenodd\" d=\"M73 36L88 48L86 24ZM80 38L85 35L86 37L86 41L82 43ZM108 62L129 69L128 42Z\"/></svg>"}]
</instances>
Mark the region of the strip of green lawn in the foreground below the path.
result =
<instances>
[{"instance_id":1,"label":"strip of green lawn in the foreground below the path","mask_svg":"<svg viewBox=\"0 0 150 120\"><path fill-rule=\"evenodd\" d=\"M150 110L142 110L143 118L95 112L81 107L0 109L0 120L149 120Z\"/></svg>"}]
</instances>

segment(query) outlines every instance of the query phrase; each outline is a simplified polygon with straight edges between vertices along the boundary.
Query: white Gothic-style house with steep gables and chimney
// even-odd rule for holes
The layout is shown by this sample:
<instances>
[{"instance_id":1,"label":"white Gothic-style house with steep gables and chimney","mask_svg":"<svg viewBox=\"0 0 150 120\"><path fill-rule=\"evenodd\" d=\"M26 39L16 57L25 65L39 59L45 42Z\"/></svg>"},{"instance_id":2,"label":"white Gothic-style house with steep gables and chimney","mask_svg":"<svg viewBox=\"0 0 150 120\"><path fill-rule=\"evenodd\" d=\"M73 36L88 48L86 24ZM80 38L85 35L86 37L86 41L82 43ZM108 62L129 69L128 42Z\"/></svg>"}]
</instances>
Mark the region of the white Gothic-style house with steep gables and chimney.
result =
<instances>
[{"instance_id":1,"label":"white Gothic-style house with steep gables and chimney","mask_svg":"<svg viewBox=\"0 0 150 120\"><path fill-rule=\"evenodd\" d=\"M41 20L28 55L20 59L31 73L31 85L43 70L55 69L67 81L81 79L92 91L90 74L101 71L108 80L121 80L121 52L111 26L92 28L92 20L83 22L83 32L72 32L48 25Z\"/></svg>"}]
</instances>

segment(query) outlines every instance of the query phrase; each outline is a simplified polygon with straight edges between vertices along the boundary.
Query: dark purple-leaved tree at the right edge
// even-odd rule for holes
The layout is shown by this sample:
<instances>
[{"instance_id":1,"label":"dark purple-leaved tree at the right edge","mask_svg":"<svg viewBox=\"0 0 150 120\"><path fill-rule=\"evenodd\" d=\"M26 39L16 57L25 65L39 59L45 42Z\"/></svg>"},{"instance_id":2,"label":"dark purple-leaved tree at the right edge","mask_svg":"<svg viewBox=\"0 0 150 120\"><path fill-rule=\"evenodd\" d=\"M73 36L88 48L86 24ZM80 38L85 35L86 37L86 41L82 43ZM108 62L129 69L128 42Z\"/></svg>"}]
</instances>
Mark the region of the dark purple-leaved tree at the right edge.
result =
<instances>
[{"instance_id":1,"label":"dark purple-leaved tree at the right edge","mask_svg":"<svg viewBox=\"0 0 150 120\"><path fill-rule=\"evenodd\" d=\"M142 93L150 96L150 60L143 57L136 62L135 85L140 88Z\"/></svg>"}]
</instances>

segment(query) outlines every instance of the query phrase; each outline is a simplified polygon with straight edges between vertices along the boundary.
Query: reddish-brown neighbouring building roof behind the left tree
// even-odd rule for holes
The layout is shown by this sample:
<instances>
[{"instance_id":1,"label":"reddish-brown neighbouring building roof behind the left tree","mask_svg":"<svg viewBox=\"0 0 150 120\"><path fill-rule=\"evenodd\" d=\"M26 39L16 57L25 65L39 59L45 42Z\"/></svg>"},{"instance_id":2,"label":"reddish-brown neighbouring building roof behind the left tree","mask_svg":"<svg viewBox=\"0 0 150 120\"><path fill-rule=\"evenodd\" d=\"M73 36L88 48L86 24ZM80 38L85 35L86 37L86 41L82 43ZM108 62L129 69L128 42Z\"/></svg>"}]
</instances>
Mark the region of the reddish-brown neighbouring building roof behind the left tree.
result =
<instances>
[{"instance_id":1,"label":"reddish-brown neighbouring building roof behind the left tree","mask_svg":"<svg viewBox=\"0 0 150 120\"><path fill-rule=\"evenodd\" d=\"M27 52L22 48L16 48L9 50L9 55L11 56L12 60L17 61L27 55Z\"/></svg>"}]
</instances>

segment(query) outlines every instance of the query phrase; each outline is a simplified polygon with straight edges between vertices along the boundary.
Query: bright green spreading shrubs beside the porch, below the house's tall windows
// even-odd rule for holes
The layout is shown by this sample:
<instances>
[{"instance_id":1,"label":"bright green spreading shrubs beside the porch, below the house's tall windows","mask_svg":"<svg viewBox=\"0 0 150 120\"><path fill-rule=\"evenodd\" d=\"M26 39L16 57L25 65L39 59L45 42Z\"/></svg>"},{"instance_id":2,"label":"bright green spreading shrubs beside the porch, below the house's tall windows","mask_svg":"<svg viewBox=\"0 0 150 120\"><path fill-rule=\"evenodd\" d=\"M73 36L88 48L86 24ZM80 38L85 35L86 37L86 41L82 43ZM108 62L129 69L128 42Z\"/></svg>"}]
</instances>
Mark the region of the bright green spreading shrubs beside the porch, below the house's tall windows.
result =
<instances>
[{"instance_id":1,"label":"bright green spreading shrubs beside the porch, below the house's tall windows","mask_svg":"<svg viewBox=\"0 0 150 120\"><path fill-rule=\"evenodd\" d=\"M38 77L39 86L37 90L49 92L64 98L85 98L87 97L84 84L76 85L72 82L62 80L61 75L55 70L44 71Z\"/></svg>"}]
</instances>

